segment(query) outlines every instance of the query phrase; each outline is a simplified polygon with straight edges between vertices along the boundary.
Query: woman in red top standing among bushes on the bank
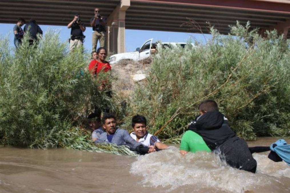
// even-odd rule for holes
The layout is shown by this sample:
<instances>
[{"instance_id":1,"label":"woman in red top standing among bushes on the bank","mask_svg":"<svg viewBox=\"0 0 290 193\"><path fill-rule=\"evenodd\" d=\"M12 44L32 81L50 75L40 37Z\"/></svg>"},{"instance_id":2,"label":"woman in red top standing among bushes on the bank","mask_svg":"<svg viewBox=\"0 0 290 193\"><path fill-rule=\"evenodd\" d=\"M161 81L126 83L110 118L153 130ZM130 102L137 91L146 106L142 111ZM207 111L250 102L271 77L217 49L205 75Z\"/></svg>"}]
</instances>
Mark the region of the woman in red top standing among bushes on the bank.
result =
<instances>
[{"instance_id":1,"label":"woman in red top standing among bushes on the bank","mask_svg":"<svg viewBox=\"0 0 290 193\"><path fill-rule=\"evenodd\" d=\"M104 47L100 47L97 49L97 52L93 52L93 60L89 64L89 71L93 75L98 75L98 73L102 72L108 72L111 70L111 66L109 62L107 62L106 59L107 56L107 50ZM99 87L99 90L103 90L105 87L105 84L107 81L104 81L102 85Z\"/></svg>"}]
</instances>

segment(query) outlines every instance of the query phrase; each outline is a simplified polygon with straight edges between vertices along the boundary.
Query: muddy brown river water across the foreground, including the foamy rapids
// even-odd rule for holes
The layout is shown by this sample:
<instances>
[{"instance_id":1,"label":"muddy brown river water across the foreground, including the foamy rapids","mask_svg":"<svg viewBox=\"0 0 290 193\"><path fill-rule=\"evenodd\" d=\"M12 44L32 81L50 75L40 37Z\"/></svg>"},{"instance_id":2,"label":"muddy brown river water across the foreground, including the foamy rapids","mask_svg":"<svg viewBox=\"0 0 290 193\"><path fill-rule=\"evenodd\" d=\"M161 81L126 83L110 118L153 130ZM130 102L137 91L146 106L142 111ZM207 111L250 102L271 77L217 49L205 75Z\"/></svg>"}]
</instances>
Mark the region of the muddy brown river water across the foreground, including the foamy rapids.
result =
<instances>
[{"instance_id":1,"label":"muddy brown river water across the foreground, including the foamy rapids","mask_svg":"<svg viewBox=\"0 0 290 193\"><path fill-rule=\"evenodd\" d=\"M267 155L253 154L258 167L252 174L211 153L181 156L177 147L138 157L0 147L0 192L290 192L290 166Z\"/></svg>"}]
</instances>

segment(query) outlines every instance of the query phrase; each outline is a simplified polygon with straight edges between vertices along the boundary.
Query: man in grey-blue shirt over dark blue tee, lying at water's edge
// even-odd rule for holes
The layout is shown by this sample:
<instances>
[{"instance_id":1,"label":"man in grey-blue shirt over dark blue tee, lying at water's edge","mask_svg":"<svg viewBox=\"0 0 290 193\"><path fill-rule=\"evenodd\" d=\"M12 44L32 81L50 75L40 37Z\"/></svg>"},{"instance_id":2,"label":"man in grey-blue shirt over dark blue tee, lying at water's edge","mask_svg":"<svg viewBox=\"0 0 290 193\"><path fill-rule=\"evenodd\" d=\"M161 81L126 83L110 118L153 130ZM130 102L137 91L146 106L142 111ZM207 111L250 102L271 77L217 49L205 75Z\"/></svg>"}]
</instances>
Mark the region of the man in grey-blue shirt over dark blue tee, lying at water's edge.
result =
<instances>
[{"instance_id":1,"label":"man in grey-blue shirt over dark blue tee, lying at water's edge","mask_svg":"<svg viewBox=\"0 0 290 193\"><path fill-rule=\"evenodd\" d=\"M125 129L120 129L116 127L116 117L111 113L104 114L102 118L104 133L100 135L95 143L114 143L116 145L127 145L132 151L137 151L138 153L154 152L155 148L153 146L143 148L144 145L135 141Z\"/></svg>"}]
</instances>

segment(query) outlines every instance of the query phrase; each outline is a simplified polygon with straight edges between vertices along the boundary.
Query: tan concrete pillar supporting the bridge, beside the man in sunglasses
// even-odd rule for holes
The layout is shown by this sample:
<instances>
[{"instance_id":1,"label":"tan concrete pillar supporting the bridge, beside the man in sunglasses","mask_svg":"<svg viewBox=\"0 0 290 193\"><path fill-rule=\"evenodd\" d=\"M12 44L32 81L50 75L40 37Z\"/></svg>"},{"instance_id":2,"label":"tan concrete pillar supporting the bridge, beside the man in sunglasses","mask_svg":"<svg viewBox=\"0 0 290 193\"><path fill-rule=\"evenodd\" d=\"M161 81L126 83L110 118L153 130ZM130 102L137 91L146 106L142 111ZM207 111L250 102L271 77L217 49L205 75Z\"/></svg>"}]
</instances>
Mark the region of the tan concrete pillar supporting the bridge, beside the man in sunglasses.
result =
<instances>
[{"instance_id":1,"label":"tan concrete pillar supporting the bridge, beside the man in sunglasses","mask_svg":"<svg viewBox=\"0 0 290 193\"><path fill-rule=\"evenodd\" d=\"M108 53L125 52L125 17L130 0L122 0L107 19Z\"/></svg>"}]
</instances>

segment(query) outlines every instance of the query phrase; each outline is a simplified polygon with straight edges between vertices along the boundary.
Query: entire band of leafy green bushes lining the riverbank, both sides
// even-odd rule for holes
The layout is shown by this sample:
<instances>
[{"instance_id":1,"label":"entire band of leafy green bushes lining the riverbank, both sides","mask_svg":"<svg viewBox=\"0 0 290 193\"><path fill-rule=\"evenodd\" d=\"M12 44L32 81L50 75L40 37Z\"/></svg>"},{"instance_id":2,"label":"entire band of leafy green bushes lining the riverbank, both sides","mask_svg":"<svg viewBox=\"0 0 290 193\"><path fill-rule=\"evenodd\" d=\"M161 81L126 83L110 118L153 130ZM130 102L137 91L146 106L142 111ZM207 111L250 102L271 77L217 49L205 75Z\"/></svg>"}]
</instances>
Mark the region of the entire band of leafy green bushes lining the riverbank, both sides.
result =
<instances>
[{"instance_id":1,"label":"entire band of leafy green bushes lining the riverbank, both sides","mask_svg":"<svg viewBox=\"0 0 290 193\"><path fill-rule=\"evenodd\" d=\"M129 131L132 116L142 114L151 133L179 143L206 99L218 102L240 137L289 135L289 40L276 31L262 38L249 24L232 26L228 36L214 28L211 33L205 45L158 50L146 84L112 99L97 88L114 79L109 73L92 77L86 70L89 54L68 53L57 33L46 32L32 47L25 37L14 54L1 38L0 143L136 155L125 146L91 143L79 128L93 106L109 107Z\"/></svg>"}]
</instances>

